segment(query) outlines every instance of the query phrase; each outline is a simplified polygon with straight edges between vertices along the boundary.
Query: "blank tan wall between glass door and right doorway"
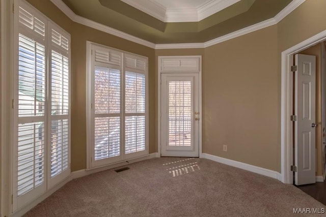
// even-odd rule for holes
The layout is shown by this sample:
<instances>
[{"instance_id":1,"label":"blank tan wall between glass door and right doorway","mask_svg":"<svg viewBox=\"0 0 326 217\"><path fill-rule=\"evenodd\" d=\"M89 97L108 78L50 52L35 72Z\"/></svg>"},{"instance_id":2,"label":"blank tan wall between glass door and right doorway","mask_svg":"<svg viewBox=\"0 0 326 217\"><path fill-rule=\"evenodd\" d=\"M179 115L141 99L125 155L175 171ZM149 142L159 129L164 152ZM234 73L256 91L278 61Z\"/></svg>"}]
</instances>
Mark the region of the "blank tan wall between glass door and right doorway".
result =
<instances>
[{"instance_id":1,"label":"blank tan wall between glass door and right doorway","mask_svg":"<svg viewBox=\"0 0 326 217\"><path fill-rule=\"evenodd\" d=\"M203 152L277 171L277 26L206 48L203 90Z\"/></svg>"}]
</instances>

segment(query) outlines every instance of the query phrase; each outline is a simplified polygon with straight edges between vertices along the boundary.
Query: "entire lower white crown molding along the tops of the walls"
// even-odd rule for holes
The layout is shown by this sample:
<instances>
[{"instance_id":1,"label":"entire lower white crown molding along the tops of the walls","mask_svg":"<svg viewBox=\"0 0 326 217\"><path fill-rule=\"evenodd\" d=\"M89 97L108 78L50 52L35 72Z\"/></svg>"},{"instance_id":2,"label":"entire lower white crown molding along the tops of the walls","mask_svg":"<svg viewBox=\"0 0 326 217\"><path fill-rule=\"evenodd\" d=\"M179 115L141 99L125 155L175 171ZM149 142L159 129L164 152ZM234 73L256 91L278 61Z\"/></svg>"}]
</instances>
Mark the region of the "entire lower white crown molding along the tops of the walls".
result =
<instances>
[{"instance_id":1,"label":"entire lower white crown molding along the tops of the walls","mask_svg":"<svg viewBox=\"0 0 326 217\"><path fill-rule=\"evenodd\" d=\"M92 20L86 19L84 17L76 15L62 0L50 0L53 4L55 4L63 13L65 13L72 21L101 30L102 32L150 47L154 49L182 49L182 48L206 48L224 41L228 41L230 39L252 33L256 30L268 27L270 25L277 24L284 17L290 14L293 10L299 7L306 0L293 0L288 6L286 6L280 13L278 13L274 18L270 18L268 20L262 21L260 23L248 26L246 28L239 29L233 33L227 34L225 36L221 36L216 39L212 39L210 41L204 43L179 43L179 44L154 44L152 42L146 41L144 39L140 39L138 37L131 36L126 34L120 30L117 30L112 27L108 27L106 25L94 22ZM125 0L124 0L125 1Z\"/></svg>"}]
</instances>

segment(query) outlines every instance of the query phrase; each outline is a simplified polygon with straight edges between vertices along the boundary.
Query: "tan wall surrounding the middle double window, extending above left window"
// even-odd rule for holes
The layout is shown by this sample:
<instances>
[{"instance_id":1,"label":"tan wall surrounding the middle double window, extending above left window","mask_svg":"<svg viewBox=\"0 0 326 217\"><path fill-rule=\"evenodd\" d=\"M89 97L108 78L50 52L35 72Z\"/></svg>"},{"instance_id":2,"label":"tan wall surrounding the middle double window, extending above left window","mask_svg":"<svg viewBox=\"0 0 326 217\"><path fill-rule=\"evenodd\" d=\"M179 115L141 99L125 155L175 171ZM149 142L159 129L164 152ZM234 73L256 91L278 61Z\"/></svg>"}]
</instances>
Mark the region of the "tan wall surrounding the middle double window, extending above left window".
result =
<instances>
[{"instance_id":1,"label":"tan wall surrounding the middle double window, extending above left window","mask_svg":"<svg viewBox=\"0 0 326 217\"><path fill-rule=\"evenodd\" d=\"M155 50L74 23L49 0L28 2L71 34L71 171L86 168L86 41L148 57L149 153L155 152Z\"/></svg>"}]
</instances>

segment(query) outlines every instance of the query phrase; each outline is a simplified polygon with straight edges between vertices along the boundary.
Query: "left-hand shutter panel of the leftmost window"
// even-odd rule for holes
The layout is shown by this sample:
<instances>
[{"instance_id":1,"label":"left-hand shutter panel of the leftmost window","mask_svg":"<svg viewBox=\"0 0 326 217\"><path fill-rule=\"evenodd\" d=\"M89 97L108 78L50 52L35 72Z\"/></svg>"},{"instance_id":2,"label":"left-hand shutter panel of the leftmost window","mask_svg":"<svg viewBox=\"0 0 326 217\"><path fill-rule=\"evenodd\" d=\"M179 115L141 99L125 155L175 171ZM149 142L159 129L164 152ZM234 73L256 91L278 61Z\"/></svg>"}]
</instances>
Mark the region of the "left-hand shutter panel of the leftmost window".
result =
<instances>
[{"instance_id":1,"label":"left-hand shutter panel of the leftmost window","mask_svg":"<svg viewBox=\"0 0 326 217\"><path fill-rule=\"evenodd\" d=\"M14 191L17 205L26 198L43 191L45 182L45 46L33 39L18 36L18 72L15 75L14 134L16 182Z\"/></svg>"}]
</instances>

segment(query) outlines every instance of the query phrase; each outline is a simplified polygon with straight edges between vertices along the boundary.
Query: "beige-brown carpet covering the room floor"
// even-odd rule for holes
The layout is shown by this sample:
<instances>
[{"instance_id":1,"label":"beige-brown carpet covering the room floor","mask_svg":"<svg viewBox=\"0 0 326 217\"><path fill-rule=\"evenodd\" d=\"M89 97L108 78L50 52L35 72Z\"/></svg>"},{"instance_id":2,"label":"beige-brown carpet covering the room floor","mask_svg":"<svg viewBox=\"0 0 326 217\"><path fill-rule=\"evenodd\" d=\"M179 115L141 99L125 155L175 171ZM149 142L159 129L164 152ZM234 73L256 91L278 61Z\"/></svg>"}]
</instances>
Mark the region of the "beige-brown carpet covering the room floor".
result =
<instances>
[{"instance_id":1,"label":"beige-brown carpet covering the room floor","mask_svg":"<svg viewBox=\"0 0 326 217\"><path fill-rule=\"evenodd\" d=\"M25 216L325 216L291 184L206 159L157 158L68 182Z\"/></svg>"}]
</instances>

